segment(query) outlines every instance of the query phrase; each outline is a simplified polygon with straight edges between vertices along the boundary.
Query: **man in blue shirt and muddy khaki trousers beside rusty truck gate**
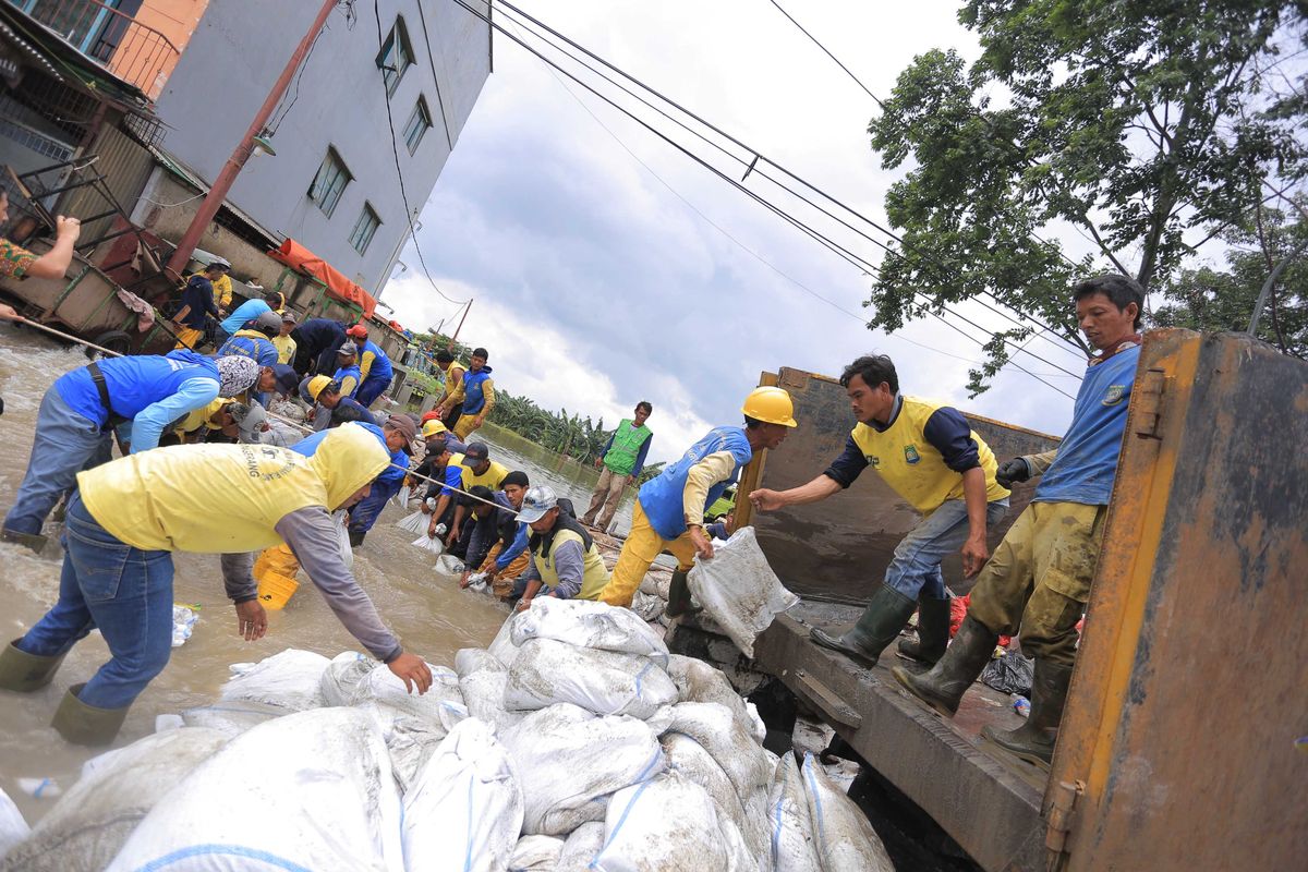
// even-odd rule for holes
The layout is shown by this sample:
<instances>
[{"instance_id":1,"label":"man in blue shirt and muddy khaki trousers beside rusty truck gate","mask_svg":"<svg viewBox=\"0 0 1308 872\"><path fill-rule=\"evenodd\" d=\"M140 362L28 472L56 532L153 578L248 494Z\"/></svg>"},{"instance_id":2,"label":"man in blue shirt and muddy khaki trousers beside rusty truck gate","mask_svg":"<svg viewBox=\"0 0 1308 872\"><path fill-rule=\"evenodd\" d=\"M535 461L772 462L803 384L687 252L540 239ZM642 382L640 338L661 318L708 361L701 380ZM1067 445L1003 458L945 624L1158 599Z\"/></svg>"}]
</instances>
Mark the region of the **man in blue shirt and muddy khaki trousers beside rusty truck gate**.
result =
<instances>
[{"instance_id":1,"label":"man in blue shirt and muddy khaki trousers beside rusty truck gate","mask_svg":"<svg viewBox=\"0 0 1308 872\"><path fill-rule=\"evenodd\" d=\"M1001 482L1042 477L972 588L972 607L948 652L925 675L893 669L909 693L954 715L999 634L1019 634L1022 651L1036 660L1031 715L1018 729L985 727L981 733L1045 770L1067 702L1076 622L1090 600L1117 476L1144 293L1131 278L1109 275L1080 282L1073 298L1080 329L1099 354L1076 392L1071 426L1057 450L1014 458L999 468Z\"/></svg>"}]
</instances>

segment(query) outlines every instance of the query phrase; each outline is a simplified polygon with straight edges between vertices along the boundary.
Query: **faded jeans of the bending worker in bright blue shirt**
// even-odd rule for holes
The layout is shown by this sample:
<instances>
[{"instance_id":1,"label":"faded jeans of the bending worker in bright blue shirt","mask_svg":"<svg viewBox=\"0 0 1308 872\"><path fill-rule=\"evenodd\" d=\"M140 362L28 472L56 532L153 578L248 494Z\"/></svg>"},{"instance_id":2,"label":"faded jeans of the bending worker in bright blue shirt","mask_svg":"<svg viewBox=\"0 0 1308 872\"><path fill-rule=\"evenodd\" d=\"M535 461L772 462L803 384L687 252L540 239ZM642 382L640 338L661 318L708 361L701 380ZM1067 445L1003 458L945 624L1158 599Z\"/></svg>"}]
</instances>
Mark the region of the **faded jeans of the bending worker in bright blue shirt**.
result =
<instances>
[{"instance_id":1,"label":"faded jeans of the bending worker in bright blue shirt","mask_svg":"<svg viewBox=\"0 0 1308 872\"><path fill-rule=\"evenodd\" d=\"M4 528L39 536L59 498L77 486L77 473L110 459L111 433L73 412L55 387L46 391L37 412L27 475L4 518Z\"/></svg>"}]
</instances>

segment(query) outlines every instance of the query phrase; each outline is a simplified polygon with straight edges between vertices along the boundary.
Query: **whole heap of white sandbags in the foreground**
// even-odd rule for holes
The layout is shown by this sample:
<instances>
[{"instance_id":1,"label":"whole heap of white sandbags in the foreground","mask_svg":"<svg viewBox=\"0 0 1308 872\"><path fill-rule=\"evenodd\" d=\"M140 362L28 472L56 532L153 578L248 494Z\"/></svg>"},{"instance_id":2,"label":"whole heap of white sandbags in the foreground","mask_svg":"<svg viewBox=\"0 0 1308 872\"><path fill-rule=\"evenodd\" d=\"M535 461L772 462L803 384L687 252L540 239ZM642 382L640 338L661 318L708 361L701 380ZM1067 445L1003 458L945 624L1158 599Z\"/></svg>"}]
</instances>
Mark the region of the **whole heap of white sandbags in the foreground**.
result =
<instances>
[{"instance_id":1,"label":"whole heap of white sandbags in the foreground","mask_svg":"<svg viewBox=\"0 0 1308 872\"><path fill-rule=\"evenodd\" d=\"M411 697L354 652L241 664L0 828L0 872L893 868L816 761L764 749L722 673L630 611L542 597L432 671Z\"/></svg>"}]
</instances>

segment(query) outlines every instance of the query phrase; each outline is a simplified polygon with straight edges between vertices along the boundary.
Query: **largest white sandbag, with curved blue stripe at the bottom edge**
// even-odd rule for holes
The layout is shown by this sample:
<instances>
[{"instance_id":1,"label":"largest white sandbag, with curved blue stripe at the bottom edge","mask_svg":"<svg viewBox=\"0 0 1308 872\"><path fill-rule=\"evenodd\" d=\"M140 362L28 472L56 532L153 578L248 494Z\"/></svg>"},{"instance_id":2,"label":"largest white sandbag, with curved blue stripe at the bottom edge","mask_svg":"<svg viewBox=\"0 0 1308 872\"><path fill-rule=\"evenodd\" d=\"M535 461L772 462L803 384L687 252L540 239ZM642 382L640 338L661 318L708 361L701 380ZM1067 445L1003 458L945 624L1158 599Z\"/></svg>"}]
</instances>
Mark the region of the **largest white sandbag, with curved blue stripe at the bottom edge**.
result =
<instances>
[{"instance_id":1,"label":"largest white sandbag, with curved blue stripe at the bottom edge","mask_svg":"<svg viewBox=\"0 0 1308 872\"><path fill-rule=\"evenodd\" d=\"M160 799L109 869L400 872L400 817L374 718L344 707L301 711L200 763Z\"/></svg>"}]
</instances>

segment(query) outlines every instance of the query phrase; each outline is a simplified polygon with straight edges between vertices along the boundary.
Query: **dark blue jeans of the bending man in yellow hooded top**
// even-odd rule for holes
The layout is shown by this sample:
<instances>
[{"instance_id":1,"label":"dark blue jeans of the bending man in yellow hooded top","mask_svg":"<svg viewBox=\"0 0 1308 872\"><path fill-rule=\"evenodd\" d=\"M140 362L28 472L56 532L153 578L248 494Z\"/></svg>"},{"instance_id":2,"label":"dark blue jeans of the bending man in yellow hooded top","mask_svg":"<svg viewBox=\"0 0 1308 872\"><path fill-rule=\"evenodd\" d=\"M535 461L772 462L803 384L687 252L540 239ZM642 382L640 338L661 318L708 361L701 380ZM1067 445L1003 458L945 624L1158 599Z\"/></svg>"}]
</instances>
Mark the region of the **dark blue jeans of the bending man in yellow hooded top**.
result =
<instances>
[{"instance_id":1,"label":"dark blue jeans of the bending man in yellow hooded top","mask_svg":"<svg viewBox=\"0 0 1308 872\"><path fill-rule=\"evenodd\" d=\"M129 706L173 652L173 554L115 539L75 493L64 522L59 601L17 646L58 656L97 626L112 656L77 698L99 709Z\"/></svg>"}]
</instances>

